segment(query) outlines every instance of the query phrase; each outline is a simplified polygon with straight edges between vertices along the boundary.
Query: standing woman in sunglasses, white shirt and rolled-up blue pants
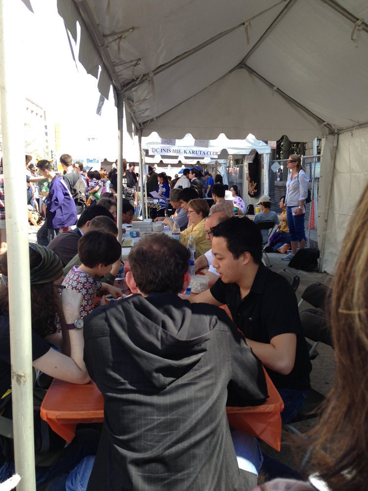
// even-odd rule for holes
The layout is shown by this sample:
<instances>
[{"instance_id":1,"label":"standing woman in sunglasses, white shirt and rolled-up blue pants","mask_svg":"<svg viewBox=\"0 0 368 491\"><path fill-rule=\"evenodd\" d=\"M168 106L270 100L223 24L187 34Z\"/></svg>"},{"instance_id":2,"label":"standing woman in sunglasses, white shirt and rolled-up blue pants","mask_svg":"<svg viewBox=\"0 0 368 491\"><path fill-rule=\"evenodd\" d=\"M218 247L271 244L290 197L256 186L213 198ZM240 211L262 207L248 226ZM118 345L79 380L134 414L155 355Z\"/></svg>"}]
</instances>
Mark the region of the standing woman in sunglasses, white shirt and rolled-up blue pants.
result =
<instances>
[{"instance_id":1,"label":"standing woman in sunglasses, white shirt and rolled-up blue pants","mask_svg":"<svg viewBox=\"0 0 368 491\"><path fill-rule=\"evenodd\" d=\"M306 244L304 217L305 200L308 196L309 177L304 172L299 155L290 155L288 160L290 170L286 183L285 204L287 207L286 215L290 232L291 252L283 257L285 261L290 261L296 253L299 242L299 249L304 249Z\"/></svg>"}]
</instances>

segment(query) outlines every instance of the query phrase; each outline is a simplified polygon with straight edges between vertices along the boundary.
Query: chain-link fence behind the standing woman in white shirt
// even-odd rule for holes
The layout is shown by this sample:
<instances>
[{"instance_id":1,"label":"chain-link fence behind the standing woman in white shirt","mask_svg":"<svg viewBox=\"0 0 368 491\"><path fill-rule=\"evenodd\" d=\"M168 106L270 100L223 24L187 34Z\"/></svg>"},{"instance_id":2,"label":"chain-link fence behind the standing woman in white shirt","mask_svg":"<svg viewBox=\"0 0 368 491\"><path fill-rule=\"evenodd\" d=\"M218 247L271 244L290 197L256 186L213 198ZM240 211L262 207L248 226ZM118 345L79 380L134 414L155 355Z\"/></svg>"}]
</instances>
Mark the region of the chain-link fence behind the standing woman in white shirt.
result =
<instances>
[{"instance_id":1,"label":"chain-link fence behind the standing woman in white shirt","mask_svg":"<svg viewBox=\"0 0 368 491\"><path fill-rule=\"evenodd\" d=\"M302 157L302 165L309 176L309 190L311 191L311 202L305 205L304 221L307 247L310 248L318 247L317 212L320 158L320 155ZM268 195L271 198L271 210L277 214L281 213L279 207L280 199L286 195L286 181L289 174L288 160L271 160L268 169Z\"/></svg>"}]
</instances>

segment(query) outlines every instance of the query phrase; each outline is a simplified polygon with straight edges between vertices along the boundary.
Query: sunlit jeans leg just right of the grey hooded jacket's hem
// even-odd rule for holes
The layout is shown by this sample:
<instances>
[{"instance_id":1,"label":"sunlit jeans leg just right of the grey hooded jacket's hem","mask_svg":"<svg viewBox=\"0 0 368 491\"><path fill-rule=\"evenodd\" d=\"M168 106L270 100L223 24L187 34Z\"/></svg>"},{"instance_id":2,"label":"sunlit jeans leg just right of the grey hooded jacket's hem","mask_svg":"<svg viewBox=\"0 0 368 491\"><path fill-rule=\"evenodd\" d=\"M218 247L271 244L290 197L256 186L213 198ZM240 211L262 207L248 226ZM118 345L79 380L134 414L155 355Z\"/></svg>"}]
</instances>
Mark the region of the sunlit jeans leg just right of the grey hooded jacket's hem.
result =
<instances>
[{"instance_id":1,"label":"sunlit jeans leg just right of the grey hooded jacket's hem","mask_svg":"<svg viewBox=\"0 0 368 491\"><path fill-rule=\"evenodd\" d=\"M256 438L241 430L233 431L231 437L239 469L258 475L263 464L263 456Z\"/></svg>"}]
</instances>

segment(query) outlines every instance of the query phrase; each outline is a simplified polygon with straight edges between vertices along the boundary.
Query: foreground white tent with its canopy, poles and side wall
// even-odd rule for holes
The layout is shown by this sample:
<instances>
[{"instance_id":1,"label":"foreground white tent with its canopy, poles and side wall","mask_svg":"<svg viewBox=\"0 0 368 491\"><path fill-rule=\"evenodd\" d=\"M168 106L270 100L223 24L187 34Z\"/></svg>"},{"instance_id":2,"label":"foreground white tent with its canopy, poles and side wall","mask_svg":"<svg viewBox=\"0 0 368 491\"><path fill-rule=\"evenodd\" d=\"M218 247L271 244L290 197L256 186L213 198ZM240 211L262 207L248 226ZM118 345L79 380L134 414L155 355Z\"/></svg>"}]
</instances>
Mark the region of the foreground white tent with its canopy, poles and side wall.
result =
<instances>
[{"instance_id":1,"label":"foreground white tent with its canopy, poles and side wall","mask_svg":"<svg viewBox=\"0 0 368 491\"><path fill-rule=\"evenodd\" d=\"M31 0L23 2L31 9ZM21 7L20 1L0 1L13 423L16 439L26 442L15 449L20 491L34 489L26 197L12 202L24 172L25 87L14 70L14 60L26 64L22 35L14 36ZM152 132L170 139L188 133L208 140L220 133L304 142L321 137L320 269L334 272L368 180L366 0L58 0L57 7L70 45L79 43L79 61L98 79L100 108L112 86L120 174L123 122L138 134L141 189L141 140Z\"/></svg>"}]
</instances>

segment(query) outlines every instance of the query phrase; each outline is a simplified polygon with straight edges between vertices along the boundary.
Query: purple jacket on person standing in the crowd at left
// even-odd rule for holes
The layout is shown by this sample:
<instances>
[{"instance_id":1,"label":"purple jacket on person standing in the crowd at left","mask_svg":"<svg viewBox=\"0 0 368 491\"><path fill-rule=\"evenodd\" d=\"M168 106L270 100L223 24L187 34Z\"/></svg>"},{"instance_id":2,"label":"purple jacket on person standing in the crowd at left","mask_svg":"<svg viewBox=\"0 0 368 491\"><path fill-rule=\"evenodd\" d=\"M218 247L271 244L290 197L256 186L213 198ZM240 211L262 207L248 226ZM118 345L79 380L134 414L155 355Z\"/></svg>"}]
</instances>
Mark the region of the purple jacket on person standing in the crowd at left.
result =
<instances>
[{"instance_id":1,"label":"purple jacket on person standing in the crowd at left","mask_svg":"<svg viewBox=\"0 0 368 491\"><path fill-rule=\"evenodd\" d=\"M63 178L56 174L50 184L47 228L69 227L75 225L76 222L77 208L74 199Z\"/></svg>"}]
</instances>

